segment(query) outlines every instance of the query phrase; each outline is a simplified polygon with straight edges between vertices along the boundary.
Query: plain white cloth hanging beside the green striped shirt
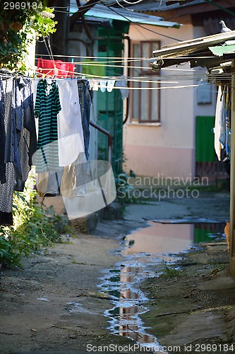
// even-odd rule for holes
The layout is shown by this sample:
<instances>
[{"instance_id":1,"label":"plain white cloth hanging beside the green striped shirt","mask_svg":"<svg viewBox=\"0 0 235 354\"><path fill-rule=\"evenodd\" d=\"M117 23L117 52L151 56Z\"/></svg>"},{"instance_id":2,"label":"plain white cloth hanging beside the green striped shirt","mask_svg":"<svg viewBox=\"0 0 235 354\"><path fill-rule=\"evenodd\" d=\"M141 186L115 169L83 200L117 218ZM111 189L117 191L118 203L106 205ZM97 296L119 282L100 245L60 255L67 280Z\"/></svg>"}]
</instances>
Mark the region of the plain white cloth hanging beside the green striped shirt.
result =
<instances>
[{"instance_id":1,"label":"plain white cloth hanging beside the green striped shirt","mask_svg":"<svg viewBox=\"0 0 235 354\"><path fill-rule=\"evenodd\" d=\"M61 112L58 115L59 166L72 164L84 152L83 126L77 80L58 80Z\"/></svg>"}]
</instances>

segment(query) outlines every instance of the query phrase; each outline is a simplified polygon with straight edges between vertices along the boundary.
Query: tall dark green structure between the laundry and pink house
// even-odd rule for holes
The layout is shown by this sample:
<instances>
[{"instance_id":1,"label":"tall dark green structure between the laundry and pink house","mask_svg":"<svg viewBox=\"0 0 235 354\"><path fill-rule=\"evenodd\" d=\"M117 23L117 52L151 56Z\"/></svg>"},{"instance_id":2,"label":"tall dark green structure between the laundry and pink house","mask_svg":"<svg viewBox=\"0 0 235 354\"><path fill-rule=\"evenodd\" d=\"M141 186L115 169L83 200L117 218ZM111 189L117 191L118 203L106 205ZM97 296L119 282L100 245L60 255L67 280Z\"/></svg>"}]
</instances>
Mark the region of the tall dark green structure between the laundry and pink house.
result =
<instances>
[{"instance_id":1,"label":"tall dark green structure between the laundry and pink house","mask_svg":"<svg viewBox=\"0 0 235 354\"><path fill-rule=\"evenodd\" d=\"M121 60L103 59L123 56L123 34L128 33L128 26L124 23L113 23L112 28L99 28L98 56L106 62L105 75L116 77L123 74ZM123 134L123 101L119 89L112 92L97 91L97 124L108 130L112 135L112 168L114 175L122 171L122 134ZM107 136L98 132L98 158L108 158Z\"/></svg>"}]
</instances>

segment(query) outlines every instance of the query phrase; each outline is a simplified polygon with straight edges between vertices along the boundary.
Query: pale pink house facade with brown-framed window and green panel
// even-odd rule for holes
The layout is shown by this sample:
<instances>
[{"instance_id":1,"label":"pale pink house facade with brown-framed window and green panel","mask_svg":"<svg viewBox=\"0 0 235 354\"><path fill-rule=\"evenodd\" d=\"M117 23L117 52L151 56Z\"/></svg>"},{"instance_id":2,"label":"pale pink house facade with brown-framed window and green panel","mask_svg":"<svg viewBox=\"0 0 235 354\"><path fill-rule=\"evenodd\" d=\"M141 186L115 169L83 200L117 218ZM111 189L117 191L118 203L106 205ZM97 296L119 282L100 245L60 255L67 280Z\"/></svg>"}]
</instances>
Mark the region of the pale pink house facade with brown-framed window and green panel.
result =
<instances>
[{"instance_id":1,"label":"pale pink house facade with brown-framed window and green panel","mask_svg":"<svg viewBox=\"0 0 235 354\"><path fill-rule=\"evenodd\" d=\"M133 57L151 57L151 50L219 33L221 19L228 26L235 25L226 11L228 4L222 10L200 0L184 6L161 3L161 6L152 3L133 8L155 13L165 21L178 21L182 26L156 30L152 26L140 28L131 24L128 36ZM217 87L207 83L206 68L196 65L191 68L186 62L158 73L152 72L150 62L135 61L134 65L131 77L141 80L142 76L148 82L131 83L128 120L123 126L125 171L132 170L138 176L184 180L217 173L213 144Z\"/></svg>"}]
</instances>

